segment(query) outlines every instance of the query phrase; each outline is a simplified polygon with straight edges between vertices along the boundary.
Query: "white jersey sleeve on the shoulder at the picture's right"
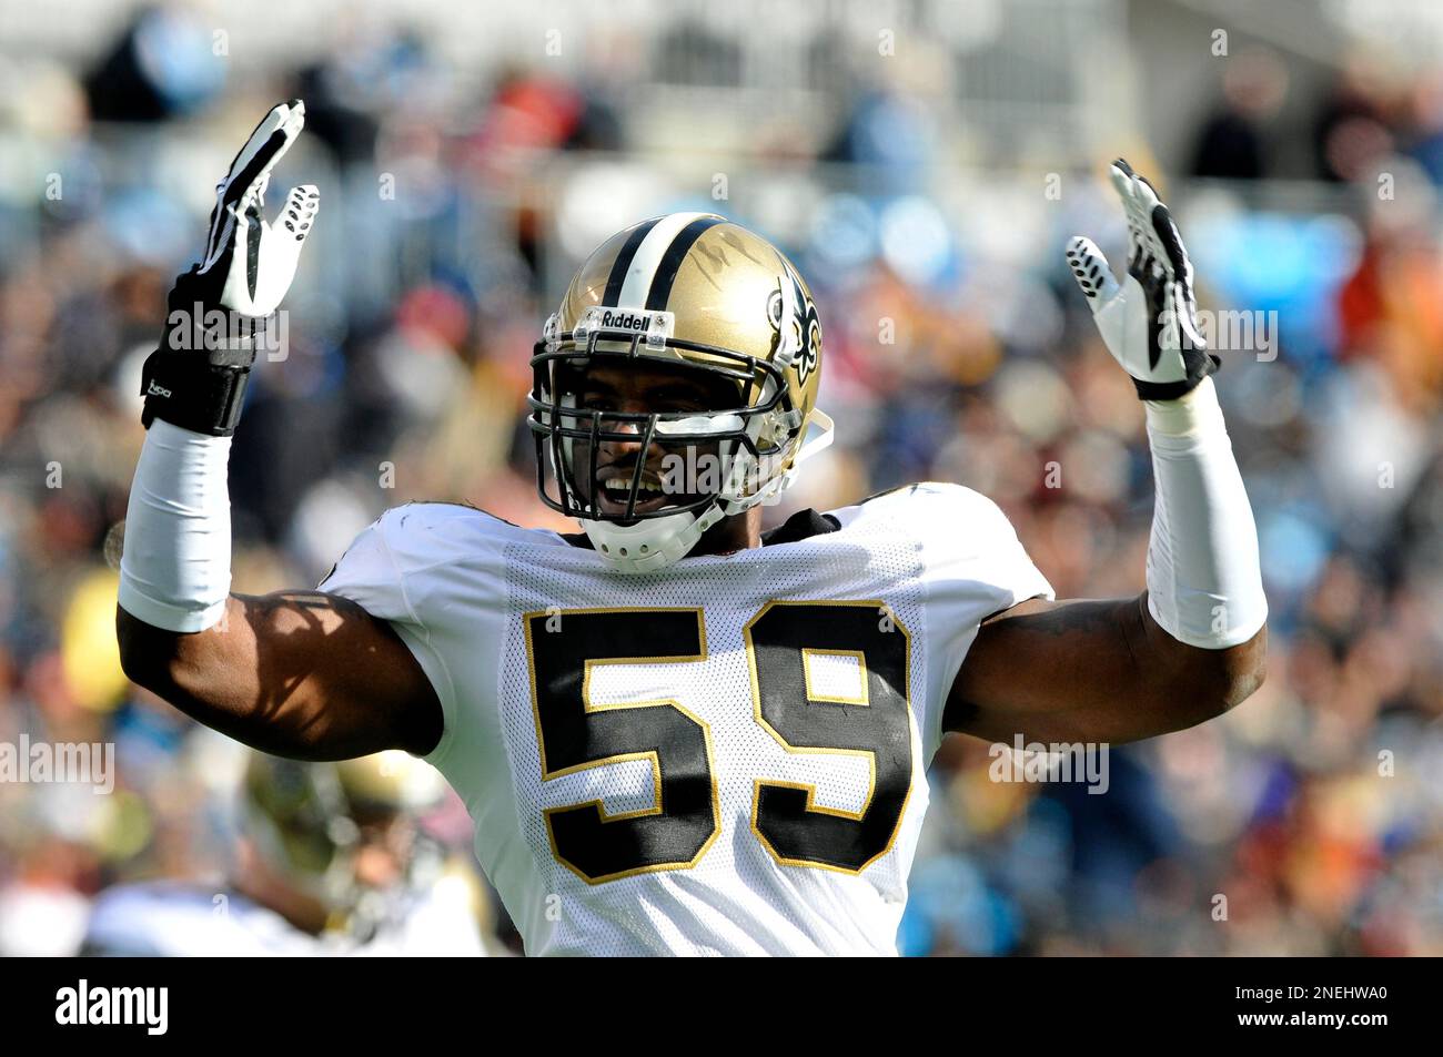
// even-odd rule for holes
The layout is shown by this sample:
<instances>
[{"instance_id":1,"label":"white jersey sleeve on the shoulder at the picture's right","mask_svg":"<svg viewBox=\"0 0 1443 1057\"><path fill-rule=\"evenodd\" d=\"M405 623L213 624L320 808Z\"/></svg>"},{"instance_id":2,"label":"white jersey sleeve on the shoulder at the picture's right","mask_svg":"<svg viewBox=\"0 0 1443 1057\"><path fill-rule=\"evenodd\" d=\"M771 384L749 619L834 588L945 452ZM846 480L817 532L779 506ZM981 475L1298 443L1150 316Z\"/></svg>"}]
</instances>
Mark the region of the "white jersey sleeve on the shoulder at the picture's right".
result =
<instances>
[{"instance_id":1,"label":"white jersey sleeve on the shoulder at the picture's right","mask_svg":"<svg viewBox=\"0 0 1443 1057\"><path fill-rule=\"evenodd\" d=\"M1052 584L1017 539L1007 515L961 485L915 485L908 521L922 544L926 588L928 714L924 750L942 741L942 712L981 622L1027 598L1052 598Z\"/></svg>"}]
</instances>

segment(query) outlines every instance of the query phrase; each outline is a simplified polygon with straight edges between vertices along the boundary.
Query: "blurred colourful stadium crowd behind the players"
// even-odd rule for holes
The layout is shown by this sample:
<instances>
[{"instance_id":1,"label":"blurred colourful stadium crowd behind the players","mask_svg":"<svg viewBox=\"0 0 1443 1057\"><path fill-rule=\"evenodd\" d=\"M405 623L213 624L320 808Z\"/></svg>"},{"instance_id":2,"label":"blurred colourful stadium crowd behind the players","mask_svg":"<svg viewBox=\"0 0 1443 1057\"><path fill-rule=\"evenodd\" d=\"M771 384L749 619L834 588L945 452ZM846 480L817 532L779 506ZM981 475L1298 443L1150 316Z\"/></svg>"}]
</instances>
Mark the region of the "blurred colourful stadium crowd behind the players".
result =
<instances>
[{"instance_id":1,"label":"blurred colourful stadium crowd behind the players","mask_svg":"<svg viewBox=\"0 0 1443 1057\"><path fill-rule=\"evenodd\" d=\"M991 4L997 25L951 33L924 25L947 6L889 9L889 43L840 0L795 30L795 68L753 55L768 27L700 4L619 4L610 36L560 4L554 36L543 19L462 65L449 9L413 7L431 17L274 53L188 4L111 16L61 58L7 33L0 741L111 743L117 784L0 783L0 953L69 953L107 887L231 859L232 747L120 672L117 525L165 293L231 153L289 97L306 133L270 199L306 182L322 205L287 355L258 363L231 456L242 593L317 583L408 499L563 528L522 424L531 345L602 238L706 209L784 245L821 310L837 444L769 521L961 482L1058 597L1134 594L1141 408L1062 258L1082 232L1123 262L1102 172L1126 154L1173 205L1202 306L1247 313L1216 381L1261 539L1267 684L1114 748L1104 796L993 782L987 746L945 743L902 950L1443 953L1443 68L1342 22L1302 33L1309 55L1241 30L1219 55L1206 4L1107 0L1025 4L1095 16L1113 59L1091 75L1029 66L1027 26ZM1182 111L1149 98L1165 35L1190 56L1159 91ZM426 823L463 849L463 815ZM499 906L482 920L492 952L518 949Z\"/></svg>"}]
</instances>

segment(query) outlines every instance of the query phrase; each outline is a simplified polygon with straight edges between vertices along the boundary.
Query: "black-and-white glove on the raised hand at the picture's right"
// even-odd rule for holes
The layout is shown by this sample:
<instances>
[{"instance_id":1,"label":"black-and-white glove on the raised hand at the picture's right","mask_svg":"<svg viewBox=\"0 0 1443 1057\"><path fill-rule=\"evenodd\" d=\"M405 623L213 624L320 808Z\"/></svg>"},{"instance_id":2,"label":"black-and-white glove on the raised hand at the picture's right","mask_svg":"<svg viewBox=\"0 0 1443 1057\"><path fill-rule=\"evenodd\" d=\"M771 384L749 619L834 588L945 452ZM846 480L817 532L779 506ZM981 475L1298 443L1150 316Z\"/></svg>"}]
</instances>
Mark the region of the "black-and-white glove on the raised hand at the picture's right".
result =
<instances>
[{"instance_id":1,"label":"black-and-white glove on the raised hand at the picture's right","mask_svg":"<svg viewBox=\"0 0 1443 1057\"><path fill-rule=\"evenodd\" d=\"M1137 395L1176 399L1219 366L1198 330L1192 262L1153 186L1123 159L1110 174L1127 213L1127 278L1120 286L1102 251L1082 235L1068 241L1068 265Z\"/></svg>"}]
</instances>

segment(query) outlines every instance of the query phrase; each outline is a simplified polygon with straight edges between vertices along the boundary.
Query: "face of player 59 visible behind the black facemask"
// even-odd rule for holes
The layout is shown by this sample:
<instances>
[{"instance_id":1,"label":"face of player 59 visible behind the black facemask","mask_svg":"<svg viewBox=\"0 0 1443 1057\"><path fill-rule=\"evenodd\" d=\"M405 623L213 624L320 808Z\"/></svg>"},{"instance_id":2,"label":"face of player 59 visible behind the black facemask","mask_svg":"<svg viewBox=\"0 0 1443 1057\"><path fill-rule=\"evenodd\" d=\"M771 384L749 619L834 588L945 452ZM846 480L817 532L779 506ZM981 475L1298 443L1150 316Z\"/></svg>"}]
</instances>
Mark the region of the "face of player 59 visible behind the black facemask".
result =
<instances>
[{"instance_id":1,"label":"face of player 59 visible behind the black facemask","mask_svg":"<svg viewBox=\"0 0 1443 1057\"><path fill-rule=\"evenodd\" d=\"M616 411L622 414L707 414L736 407L736 389L727 382L709 378L684 366L668 365L593 365L584 378L574 382L577 405L595 411ZM681 444L678 441L652 443L642 451L644 427L633 421L612 420L603 415L602 431L625 433L635 441L602 440L596 450L596 480L602 493L597 505L605 513L626 512L632 474L641 460L642 477L636 513L659 510L665 506L690 503L701 497L697 483L691 480L687 467L696 467L703 456L714 457L717 443ZM690 451L688 451L690 448ZM671 456L672 459L668 459ZM680 457L680 459L677 459ZM590 443L579 440L574 446L573 464L590 466ZM590 474L577 474L577 490L590 500Z\"/></svg>"}]
</instances>

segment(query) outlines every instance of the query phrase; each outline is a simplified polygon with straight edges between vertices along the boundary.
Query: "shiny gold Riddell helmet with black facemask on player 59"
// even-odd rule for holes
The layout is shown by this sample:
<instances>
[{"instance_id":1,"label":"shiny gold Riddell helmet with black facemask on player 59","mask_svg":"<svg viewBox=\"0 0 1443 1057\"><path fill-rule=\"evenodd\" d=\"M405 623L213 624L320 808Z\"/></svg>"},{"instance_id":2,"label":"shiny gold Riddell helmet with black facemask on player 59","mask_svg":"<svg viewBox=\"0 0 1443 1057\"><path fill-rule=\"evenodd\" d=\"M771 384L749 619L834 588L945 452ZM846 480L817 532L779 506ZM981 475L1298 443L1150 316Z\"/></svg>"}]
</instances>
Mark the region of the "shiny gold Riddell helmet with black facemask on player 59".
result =
<instances>
[{"instance_id":1,"label":"shiny gold Riddell helmet with black facemask on player 59","mask_svg":"<svg viewBox=\"0 0 1443 1057\"><path fill-rule=\"evenodd\" d=\"M729 407L577 405L593 366L658 362L723 379ZM817 410L821 323L811 291L776 247L710 213L645 221L602 244L547 320L531 366L541 499L580 519L602 558L626 572L685 557L722 518L779 495L798 461L831 440L831 420ZM662 464L678 473L661 490L674 502L638 509L651 496L639 459L629 482L609 482L612 509L603 509L596 453L606 441L665 451ZM697 453L710 464L698 466Z\"/></svg>"}]
</instances>

